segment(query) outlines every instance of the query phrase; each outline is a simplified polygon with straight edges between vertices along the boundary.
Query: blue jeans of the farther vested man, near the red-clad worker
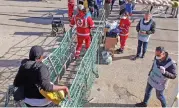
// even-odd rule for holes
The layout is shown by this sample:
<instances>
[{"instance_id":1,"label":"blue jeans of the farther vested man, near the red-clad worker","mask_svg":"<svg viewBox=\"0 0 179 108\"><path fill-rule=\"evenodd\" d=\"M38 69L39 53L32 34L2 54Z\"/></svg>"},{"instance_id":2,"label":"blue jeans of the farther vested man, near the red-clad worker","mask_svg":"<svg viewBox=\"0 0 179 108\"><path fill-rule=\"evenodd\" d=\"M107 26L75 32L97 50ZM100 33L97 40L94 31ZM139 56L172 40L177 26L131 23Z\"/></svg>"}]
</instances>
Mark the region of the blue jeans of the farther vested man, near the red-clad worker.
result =
<instances>
[{"instance_id":1,"label":"blue jeans of the farther vested man, near the red-clad worker","mask_svg":"<svg viewBox=\"0 0 179 108\"><path fill-rule=\"evenodd\" d=\"M143 48L142 48L142 46L143 46ZM147 51L147 47L148 47L148 42L142 42L142 41L138 40L137 56L140 56L141 49L142 49L142 56L144 56Z\"/></svg>"}]
</instances>

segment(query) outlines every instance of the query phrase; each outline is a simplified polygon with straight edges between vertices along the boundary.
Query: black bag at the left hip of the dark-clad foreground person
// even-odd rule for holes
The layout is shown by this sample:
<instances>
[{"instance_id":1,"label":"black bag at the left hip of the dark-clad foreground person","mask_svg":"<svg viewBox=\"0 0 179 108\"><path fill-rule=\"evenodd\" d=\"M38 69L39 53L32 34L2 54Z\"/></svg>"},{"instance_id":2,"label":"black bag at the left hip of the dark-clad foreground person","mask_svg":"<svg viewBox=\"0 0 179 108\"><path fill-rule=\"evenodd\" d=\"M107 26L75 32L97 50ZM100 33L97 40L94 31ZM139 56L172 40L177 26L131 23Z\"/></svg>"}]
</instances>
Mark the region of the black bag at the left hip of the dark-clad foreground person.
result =
<instances>
[{"instance_id":1,"label":"black bag at the left hip of the dark-clad foreground person","mask_svg":"<svg viewBox=\"0 0 179 108\"><path fill-rule=\"evenodd\" d=\"M13 94L14 100L15 101L20 101L20 100L24 100L25 96L24 96L24 87L18 87Z\"/></svg>"}]
</instances>

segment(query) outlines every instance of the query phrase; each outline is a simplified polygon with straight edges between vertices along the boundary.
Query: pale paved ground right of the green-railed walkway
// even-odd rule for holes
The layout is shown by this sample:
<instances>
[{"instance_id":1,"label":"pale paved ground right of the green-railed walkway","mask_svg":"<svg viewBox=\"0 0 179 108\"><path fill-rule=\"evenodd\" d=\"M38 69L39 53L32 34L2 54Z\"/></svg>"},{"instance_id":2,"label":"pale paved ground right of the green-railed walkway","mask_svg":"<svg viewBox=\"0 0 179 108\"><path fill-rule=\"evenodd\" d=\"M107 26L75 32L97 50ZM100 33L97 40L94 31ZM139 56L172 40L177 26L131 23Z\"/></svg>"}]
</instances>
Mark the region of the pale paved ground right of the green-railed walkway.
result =
<instances>
[{"instance_id":1,"label":"pale paved ground right of the green-railed walkway","mask_svg":"<svg viewBox=\"0 0 179 108\"><path fill-rule=\"evenodd\" d=\"M117 4L117 3L116 3ZM138 6L137 9L140 9ZM110 20L116 20L117 6L110 15ZM142 17L142 15L134 14ZM151 69L152 60L156 46L164 46L170 56L177 61L178 57L178 24L173 18L154 18L156 21L156 33L151 37L147 55L144 59L131 61L130 58L136 54L137 33L135 26L139 19L132 23L130 36L127 41L127 49L124 54L115 55L112 65L99 66L99 78L92 88L89 105L93 107L114 106L130 107L143 100L147 83L148 72ZM178 80L171 80L165 91L167 102L171 105L177 93ZM149 106L160 106L156 99L155 91L152 93Z\"/></svg>"}]
</instances>

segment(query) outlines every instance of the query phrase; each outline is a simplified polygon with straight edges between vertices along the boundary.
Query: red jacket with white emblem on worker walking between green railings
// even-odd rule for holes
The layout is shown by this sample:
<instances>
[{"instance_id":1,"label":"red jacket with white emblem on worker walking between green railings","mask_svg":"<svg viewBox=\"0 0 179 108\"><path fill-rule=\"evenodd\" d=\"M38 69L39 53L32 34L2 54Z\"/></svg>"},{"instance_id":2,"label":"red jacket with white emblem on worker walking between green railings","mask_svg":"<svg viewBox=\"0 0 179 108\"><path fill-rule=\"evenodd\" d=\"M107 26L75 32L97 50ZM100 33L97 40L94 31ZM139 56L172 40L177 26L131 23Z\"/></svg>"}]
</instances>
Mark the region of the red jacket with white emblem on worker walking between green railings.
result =
<instances>
[{"instance_id":1,"label":"red jacket with white emblem on worker walking between green railings","mask_svg":"<svg viewBox=\"0 0 179 108\"><path fill-rule=\"evenodd\" d=\"M94 22L91 17L85 18L85 14L80 12L71 20L70 26L77 27L78 36L90 36L91 28L94 28Z\"/></svg>"}]
</instances>

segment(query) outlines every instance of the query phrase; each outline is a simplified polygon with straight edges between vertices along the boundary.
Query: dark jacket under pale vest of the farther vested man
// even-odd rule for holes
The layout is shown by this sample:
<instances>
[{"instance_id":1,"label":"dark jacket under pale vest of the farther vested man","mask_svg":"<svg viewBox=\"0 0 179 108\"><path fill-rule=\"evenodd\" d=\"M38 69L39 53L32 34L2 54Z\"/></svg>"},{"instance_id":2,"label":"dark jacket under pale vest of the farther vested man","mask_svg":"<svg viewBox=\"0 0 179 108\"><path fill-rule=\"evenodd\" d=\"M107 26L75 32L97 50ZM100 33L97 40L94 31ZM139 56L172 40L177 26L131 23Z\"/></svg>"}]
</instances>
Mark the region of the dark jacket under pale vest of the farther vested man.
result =
<instances>
[{"instance_id":1,"label":"dark jacket under pale vest of the farther vested man","mask_svg":"<svg viewBox=\"0 0 179 108\"><path fill-rule=\"evenodd\" d=\"M144 23L144 20L143 20L143 24L144 25L148 25L151 21L153 21L152 25L151 25L151 28L149 31L147 31L147 34L150 35L150 34L154 34L155 33L155 29L156 29L156 23L153 19L151 19L148 23ZM139 21L139 23L137 24L136 26L136 31L139 32L140 31L140 22L141 20Z\"/></svg>"}]
</instances>

